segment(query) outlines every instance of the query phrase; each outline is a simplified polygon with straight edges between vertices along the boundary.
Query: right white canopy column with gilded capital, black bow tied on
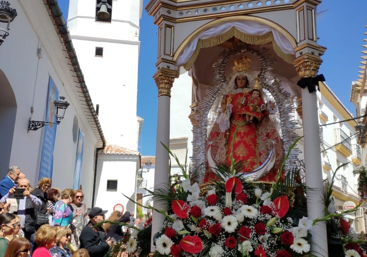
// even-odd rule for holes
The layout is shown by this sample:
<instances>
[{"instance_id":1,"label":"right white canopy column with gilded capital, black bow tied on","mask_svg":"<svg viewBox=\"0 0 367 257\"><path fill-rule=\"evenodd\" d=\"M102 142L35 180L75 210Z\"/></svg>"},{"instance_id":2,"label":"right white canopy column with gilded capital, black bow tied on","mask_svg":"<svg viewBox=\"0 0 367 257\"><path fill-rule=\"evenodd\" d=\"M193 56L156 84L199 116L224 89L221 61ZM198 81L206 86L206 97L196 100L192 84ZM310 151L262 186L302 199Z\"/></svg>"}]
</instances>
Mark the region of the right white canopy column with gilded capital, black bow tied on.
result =
<instances>
[{"instance_id":1,"label":"right white canopy column with gilded capital, black bow tied on","mask_svg":"<svg viewBox=\"0 0 367 257\"><path fill-rule=\"evenodd\" d=\"M301 80L308 80L307 85L302 88L302 120L304 133L304 155L305 155L305 173L306 186L312 191L307 193L307 212L312 220L324 217L324 203L322 201L323 177L321 170L320 154L320 133L319 119L317 111L317 89L315 83L310 83L317 75L322 60L320 57L312 54L304 54L295 59L295 66ZM309 78L309 79L305 79ZM318 85L317 85L318 86ZM314 91L315 90L315 91ZM312 230L311 250L316 256L328 256L326 224L320 222L314 225Z\"/></svg>"}]
</instances>

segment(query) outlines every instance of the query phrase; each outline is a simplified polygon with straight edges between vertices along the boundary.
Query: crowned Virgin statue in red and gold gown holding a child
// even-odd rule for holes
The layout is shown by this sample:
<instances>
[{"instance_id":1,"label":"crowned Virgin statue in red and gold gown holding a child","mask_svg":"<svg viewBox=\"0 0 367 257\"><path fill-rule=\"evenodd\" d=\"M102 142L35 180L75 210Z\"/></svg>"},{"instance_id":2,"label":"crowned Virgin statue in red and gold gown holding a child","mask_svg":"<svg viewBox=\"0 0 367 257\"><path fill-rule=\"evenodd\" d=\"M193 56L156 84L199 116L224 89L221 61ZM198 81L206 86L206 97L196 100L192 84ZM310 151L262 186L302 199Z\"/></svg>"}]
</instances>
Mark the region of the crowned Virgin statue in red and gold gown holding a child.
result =
<instances>
[{"instance_id":1,"label":"crowned Virgin statue in red and gold gown holding a child","mask_svg":"<svg viewBox=\"0 0 367 257\"><path fill-rule=\"evenodd\" d=\"M212 163L231 164L231 146L235 163L241 162L241 170L248 173L258 169L270 152L275 151L275 162L261 180L275 180L284 156L281 137L275 119L276 105L261 88L261 77L250 71L250 60L239 55L235 58L232 75L214 102L210 115L213 124L208 132L206 145L206 174L204 182L215 178ZM259 94L254 94L258 91ZM260 99L256 98L259 95ZM246 121L248 106L257 103L260 113L251 122ZM253 113L251 113L253 114ZM238 127L237 133L236 129Z\"/></svg>"}]
</instances>

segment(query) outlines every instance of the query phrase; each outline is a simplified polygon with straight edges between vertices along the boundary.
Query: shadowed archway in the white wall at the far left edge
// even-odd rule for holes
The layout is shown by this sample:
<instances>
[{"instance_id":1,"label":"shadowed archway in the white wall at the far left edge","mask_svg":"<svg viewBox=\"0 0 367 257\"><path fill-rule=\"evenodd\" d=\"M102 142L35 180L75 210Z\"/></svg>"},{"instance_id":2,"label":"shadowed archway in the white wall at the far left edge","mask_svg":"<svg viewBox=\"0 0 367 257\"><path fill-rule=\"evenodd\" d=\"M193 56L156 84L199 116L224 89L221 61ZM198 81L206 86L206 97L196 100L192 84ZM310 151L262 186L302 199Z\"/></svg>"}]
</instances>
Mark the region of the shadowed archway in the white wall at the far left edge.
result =
<instances>
[{"instance_id":1,"label":"shadowed archway in the white wall at the far left edge","mask_svg":"<svg viewBox=\"0 0 367 257\"><path fill-rule=\"evenodd\" d=\"M0 175L4 176L10 165L10 155L17 115L14 91L0 69Z\"/></svg>"}]
</instances>

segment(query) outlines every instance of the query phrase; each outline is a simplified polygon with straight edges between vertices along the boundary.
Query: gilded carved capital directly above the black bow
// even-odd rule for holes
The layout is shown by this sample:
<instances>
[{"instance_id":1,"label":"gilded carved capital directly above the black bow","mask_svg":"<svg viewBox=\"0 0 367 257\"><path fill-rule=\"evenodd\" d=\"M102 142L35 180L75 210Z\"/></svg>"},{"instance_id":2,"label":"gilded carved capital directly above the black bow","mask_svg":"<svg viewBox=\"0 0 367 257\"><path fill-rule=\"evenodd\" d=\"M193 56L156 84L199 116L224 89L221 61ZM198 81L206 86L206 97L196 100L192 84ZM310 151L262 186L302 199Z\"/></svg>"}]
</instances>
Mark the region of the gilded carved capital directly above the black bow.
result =
<instances>
[{"instance_id":1,"label":"gilded carved capital directly above the black bow","mask_svg":"<svg viewBox=\"0 0 367 257\"><path fill-rule=\"evenodd\" d=\"M304 54L294 60L293 66L296 68L299 77L315 77L321 63L322 60L320 57Z\"/></svg>"}]
</instances>

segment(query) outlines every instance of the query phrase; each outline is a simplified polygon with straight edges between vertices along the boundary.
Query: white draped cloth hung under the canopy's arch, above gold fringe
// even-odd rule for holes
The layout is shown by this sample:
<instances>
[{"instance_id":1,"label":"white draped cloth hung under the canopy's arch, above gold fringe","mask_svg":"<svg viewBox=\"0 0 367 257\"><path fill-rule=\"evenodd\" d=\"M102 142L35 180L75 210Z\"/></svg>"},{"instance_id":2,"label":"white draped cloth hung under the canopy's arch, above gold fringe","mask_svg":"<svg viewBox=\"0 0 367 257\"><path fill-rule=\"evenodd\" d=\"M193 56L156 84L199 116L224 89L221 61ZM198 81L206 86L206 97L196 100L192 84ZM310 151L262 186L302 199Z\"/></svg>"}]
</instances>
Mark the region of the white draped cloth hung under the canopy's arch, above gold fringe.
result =
<instances>
[{"instance_id":1,"label":"white draped cloth hung under the canopy's arch, above gold fringe","mask_svg":"<svg viewBox=\"0 0 367 257\"><path fill-rule=\"evenodd\" d=\"M182 50L181 55L177 58L175 68L177 69L180 66L185 65L190 59L192 59L192 56L195 53L197 56L198 53L196 51L199 40L210 39L212 37L222 35L232 28L235 28L244 34L251 36L263 36L271 32L273 39L277 47L279 47L280 51L282 51L285 55L294 55L293 46L290 43L290 41L288 41L288 39L286 39L285 36L283 36L280 32L278 32L274 28L271 28L263 23L255 21L230 21L230 22L226 21L224 23L217 24L207 29L206 31L201 32L194 39L192 39L190 43L187 46L185 46L185 48ZM230 37L232 36L228 36L228 39ZM224 42L225 40L227 39L221 38L222 42ZM277 54L279 55L279 53ZM189 67L186 66L185 68Z\"/></svg>"}]
</instances>

